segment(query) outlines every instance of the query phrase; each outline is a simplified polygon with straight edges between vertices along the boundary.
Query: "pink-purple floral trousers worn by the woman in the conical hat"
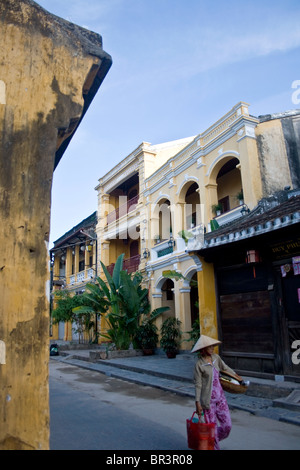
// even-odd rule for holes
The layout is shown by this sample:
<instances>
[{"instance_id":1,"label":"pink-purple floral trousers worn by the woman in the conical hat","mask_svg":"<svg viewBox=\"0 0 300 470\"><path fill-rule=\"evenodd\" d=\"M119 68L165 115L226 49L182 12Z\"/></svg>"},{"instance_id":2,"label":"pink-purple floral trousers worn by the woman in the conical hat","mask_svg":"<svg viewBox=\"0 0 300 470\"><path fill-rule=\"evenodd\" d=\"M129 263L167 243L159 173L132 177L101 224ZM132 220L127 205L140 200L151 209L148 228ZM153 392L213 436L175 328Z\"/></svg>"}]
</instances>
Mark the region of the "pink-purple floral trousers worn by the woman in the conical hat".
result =
<instances>
[{"instance_id":1,"label":"pink-purple floral trousers worn by the woman in the conical hat","mask_svg":"<svg viewBox=\"0 0 300 470\"><path fill-rule=\"evenodd\" d=\"M228 404L219 380L219 372L215 368L210 409L204 411L204 416L207 423L216 424L215 450L220 450L219 442L229 436L232 425Z\"/></svg>"}]
</instances>

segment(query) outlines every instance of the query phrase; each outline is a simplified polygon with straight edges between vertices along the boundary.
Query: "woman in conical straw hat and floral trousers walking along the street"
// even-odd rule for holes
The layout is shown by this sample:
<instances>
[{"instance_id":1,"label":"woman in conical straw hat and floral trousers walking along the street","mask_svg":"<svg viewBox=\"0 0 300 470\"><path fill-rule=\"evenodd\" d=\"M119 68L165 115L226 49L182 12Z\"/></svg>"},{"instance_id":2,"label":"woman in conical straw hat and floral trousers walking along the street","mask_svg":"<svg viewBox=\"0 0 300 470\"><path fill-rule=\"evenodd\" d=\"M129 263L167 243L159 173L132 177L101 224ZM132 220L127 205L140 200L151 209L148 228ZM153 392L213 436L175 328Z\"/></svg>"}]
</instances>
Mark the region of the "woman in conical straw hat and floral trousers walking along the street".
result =
<instances>
[{"instance_id":1,"label":"woman in conical straw hat and floral trousers walking along the street","mask_svg":"<svg viewBox=\"0 0 300 470\"><path fill-rule=\"evenodd\" d=\"M215 450L220 449L219 442L229 436L231 431L231 416L227 400L220 384L219 371L234 374L242 380L225 362L214 354L214 348L221 341L201 335L192 349L199 352L200 357L195 365L194 381L196 388L196 412L205 422L215 423Z\"/></svg>"}]
</instances>

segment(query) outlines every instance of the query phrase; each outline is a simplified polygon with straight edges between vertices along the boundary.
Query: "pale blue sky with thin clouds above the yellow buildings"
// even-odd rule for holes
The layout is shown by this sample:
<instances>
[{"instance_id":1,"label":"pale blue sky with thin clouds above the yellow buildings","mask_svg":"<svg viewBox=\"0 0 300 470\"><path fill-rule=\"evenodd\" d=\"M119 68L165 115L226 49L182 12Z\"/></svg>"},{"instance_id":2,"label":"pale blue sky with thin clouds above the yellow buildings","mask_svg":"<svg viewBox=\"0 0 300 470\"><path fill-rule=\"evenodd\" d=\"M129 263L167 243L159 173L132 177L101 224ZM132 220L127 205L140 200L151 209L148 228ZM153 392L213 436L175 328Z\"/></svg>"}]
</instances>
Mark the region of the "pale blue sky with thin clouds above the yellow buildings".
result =
<instances>
[{"instance_id":1,"label":"pale blue sky with thin clouds above the yellow buildings","mask_svg":"<svg viewBox=\"0 0 300 470\"><path fill-rule=\"evenodd\" d=\"M49 248L142 142L200 134L239 101L254 116L300 108L299 0L37 3L99 33L113 60L54 172Z\"/></svg>"}]
</instances>

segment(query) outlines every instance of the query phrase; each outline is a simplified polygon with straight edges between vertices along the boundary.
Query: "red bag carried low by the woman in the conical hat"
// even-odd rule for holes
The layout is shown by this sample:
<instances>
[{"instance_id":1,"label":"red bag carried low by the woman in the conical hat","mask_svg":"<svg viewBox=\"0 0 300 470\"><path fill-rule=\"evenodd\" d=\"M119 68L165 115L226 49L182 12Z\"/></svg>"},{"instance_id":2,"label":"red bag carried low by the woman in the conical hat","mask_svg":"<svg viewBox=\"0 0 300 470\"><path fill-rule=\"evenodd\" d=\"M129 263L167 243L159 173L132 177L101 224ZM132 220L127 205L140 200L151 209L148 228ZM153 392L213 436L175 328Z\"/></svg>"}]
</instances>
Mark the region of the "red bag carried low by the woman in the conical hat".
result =
<instances>
[{"instance_id":1,"label":"red bag carried low by the woman in the conical hat","mask_svg":"<svg viewBox=\"0 0 300 470\"><path fill-rule=\"evenodd\" d=\"M214 450L215 424L193 423L194 411L191 419L186 420L188 448L193 450Z\"/></svg>"}]
</instances>

